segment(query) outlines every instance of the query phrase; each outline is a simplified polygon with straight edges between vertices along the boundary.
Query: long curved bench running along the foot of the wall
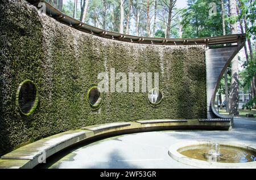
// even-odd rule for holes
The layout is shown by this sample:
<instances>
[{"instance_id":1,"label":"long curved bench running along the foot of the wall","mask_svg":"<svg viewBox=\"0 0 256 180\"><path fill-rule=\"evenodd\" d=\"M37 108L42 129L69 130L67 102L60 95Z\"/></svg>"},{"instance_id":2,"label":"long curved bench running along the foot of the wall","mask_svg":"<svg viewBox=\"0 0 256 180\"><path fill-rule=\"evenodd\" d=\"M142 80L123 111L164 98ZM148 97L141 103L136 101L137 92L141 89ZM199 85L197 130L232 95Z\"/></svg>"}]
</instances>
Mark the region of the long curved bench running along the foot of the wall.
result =
<instances>
[{"instance_id":1,"label":"long curved bench running along the foot of the wall","mask_svg":"<svg viewBox=\"0 0 256 180\"><path fill-rule=\"evenodd\" d=\"M229 128L230 121L205 122L199 119L155 119L82 127L80 130L61 132L9 152L1 157L0 168L34 168L45 158L71 145L93 138L145 131L229 130Z\"/></svg>"}]
</instances>

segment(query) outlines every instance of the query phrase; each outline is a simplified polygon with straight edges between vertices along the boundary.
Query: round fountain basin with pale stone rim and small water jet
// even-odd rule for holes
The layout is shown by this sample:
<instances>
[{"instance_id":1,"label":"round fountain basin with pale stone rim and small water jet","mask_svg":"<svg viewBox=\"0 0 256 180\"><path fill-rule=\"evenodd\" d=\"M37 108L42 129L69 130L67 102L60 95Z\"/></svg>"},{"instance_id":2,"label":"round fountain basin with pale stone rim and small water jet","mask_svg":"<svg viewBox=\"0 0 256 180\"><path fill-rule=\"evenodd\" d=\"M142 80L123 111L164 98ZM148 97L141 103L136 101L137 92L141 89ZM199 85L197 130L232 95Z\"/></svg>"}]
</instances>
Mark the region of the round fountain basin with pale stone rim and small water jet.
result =
<instances>
[{"instance_id":1,"label":"round fountain basin with pale stone rim and small water jet","mask_svg":"<svg viewBox=\"0 0 256 180\"><path fill-rule=\"evenodd\" d=\"M169 155L197 168L256 168L256 146L196 140L174 144Z\"/></svg>"}]
</instances>

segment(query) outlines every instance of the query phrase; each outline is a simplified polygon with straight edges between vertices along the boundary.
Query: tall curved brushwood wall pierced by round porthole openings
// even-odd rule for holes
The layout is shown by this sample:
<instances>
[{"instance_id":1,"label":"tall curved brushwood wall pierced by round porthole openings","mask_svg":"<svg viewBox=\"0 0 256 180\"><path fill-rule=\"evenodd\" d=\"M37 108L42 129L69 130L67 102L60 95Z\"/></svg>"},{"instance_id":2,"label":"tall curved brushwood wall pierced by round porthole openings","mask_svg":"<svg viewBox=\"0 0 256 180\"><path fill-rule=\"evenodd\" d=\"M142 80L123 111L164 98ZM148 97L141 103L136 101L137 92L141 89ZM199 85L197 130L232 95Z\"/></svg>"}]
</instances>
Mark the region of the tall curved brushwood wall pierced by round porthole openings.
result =
<instances>
[{"instance_id":1,"label":"tall curved brushwood wall pierced by round porthole openings","mask_svg":"<svg viewBox=\"0 0 256 180\"><path fill-rule=\"evenodd\" d=\"M162 118L206 118L203 46L140 45L89 35L57 22L24 0L0 3L0 154L82 126ZM104 93L99 109L85 101L99 72L159 72L162 104L147 93ZM23 80L38 87L28 117L15 93Z\"/></svg>"}]
</instances>

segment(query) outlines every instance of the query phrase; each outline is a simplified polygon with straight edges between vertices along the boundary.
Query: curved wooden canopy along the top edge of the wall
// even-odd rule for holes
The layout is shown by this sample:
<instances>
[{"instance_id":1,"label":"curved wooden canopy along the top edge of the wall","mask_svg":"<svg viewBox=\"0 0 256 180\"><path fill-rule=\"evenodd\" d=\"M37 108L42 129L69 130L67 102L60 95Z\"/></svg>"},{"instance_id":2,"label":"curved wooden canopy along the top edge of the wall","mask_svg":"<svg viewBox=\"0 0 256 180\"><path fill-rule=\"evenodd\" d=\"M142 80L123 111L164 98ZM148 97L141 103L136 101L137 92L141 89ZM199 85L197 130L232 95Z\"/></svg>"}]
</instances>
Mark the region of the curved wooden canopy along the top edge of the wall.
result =
<instances>
[{"instance_id":1,"label":"curved wooden canopy along the top edge of the wall","mask_svg":"<svg viewBox=\"0 0 256 180\"><path fill-rule=\"evenodd\" d=\"M222 45L222 44L241 44L245 41L245 34L216 36L216 37L203 37L203 38L155 38L155 37L139 37L124 35L117 32L106 31L104 29L93 27L73 19L70 16L63 14L63 12L57 10L55 7L47 3L45 0L27 0L36 7L39 8L39 3L44 2L46 4L46 14L55 18L60 23L67 24L79 31L91 33L96 36L104 38L110 38L118 41L133 42L139 44L158 44L158 45Z\"/></svg>"}]
</instances>

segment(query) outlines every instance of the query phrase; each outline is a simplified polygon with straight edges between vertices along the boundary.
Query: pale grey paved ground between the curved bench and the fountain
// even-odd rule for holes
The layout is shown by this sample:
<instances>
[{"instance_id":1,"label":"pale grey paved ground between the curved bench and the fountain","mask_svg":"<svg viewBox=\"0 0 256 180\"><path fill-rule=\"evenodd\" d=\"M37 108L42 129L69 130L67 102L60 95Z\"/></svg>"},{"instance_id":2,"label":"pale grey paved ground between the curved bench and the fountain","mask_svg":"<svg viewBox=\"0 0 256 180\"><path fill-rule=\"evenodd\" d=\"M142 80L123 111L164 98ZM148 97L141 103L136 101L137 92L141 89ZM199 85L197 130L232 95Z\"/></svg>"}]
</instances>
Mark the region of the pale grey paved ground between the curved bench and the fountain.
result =
<instances>
[{"instance_id":1,"label":"pale grey paved ground between the curved bench and the fountain","mask_svg":"<svg viewBox=\"0 0 256 180\"><path fill-rule=\"evenodd\" d=\"M234 118L231 131L155 131L116 136L72 150L59 161L48 160L47 168L193 168L168 155L168 148L181 140L256 145L256 118Z\"/></svg>"}]
</instances>

